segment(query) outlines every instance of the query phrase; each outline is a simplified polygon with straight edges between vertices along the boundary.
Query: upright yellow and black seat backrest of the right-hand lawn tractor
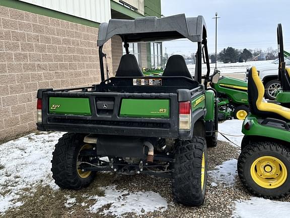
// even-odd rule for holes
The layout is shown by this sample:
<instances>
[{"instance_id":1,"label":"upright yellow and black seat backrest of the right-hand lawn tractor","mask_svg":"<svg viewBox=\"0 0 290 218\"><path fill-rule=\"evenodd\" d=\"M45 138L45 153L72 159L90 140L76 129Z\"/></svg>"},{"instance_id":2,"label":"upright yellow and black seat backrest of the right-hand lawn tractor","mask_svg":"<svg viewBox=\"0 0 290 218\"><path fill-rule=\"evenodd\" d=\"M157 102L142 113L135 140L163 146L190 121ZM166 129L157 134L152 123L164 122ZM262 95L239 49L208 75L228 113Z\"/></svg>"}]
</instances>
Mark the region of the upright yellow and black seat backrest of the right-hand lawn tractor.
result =
<instances>
[{"instance_id":1,"label":"upright yellow and black seat backrest of the right-hand lawn tractor","mask_svg":"<svg viewBox=\"0 0 290 218\"><path fill-rule=\"evenodd\" d=\"M251 67L248 77L248 101L252 114L259 115L257 102L261 102L265 93L265 88L260 80L256 67Z\"/></svg>"}]
</instances>

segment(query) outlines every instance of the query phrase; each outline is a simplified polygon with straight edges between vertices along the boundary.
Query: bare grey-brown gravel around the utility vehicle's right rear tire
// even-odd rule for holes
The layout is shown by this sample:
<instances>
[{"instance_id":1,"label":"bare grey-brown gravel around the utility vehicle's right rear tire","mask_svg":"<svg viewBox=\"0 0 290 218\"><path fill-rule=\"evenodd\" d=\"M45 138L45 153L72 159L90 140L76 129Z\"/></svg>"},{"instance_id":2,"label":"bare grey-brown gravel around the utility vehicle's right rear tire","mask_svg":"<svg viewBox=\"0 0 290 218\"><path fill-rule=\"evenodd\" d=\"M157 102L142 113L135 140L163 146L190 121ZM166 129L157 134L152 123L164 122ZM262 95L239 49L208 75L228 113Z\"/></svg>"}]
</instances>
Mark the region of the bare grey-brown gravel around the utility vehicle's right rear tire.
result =
<instances>
[{"instance_id":1,"label":"bare grey-brown gravel around the utility vehicle's right rear tire","mask_svg":"<svg viewBox=\"0 0 290 218\"><path fill-rule=\"evenodd\" d=\"M218 147L208 149L208 170L221 165L224 161L238 158L239 148L227 142L219 141ZM232 217L234 200L249 199L250 195L244 190L238 178L233 187L223 184L211 186L213 180L208 177L205 202L199 207L186 207L173 202L170 179L156 178L146 175L123 176L106 175L106 185L116 185L118 189L134 191L154 191L168 202L168 209L164 212L151 212L144 215L127 214L126 217ZM96 180L98 180L96 178Z\"/></svg>"}]
</instances>

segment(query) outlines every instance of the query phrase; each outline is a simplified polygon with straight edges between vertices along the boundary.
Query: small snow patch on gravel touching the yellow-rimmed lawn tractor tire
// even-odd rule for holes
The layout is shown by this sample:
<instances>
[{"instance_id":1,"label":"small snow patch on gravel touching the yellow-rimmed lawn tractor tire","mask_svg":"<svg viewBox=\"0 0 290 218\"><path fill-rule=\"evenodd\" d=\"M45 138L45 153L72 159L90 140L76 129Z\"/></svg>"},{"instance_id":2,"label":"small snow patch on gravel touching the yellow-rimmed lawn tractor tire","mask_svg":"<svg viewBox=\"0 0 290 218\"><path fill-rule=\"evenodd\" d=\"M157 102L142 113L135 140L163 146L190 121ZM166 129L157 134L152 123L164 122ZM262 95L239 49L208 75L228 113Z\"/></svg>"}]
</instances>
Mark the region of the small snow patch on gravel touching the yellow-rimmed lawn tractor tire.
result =
<instances>
[{"instance_id":1,"label":"small snow patch on gravel touching the yellow-rimmed lawn tractor tire","mask_svg":"<svg viewBox=\"0 0 290 218\"><path fill-rule=\"evenodd\" d=\"M214 179L215 182L221 183L224 186L234 186L235 177L237 174L237 162L236 159L230 159L223 162L222 165L216 166L213 171L208 171L208 175Z\"/></svg>"}]
</instances>

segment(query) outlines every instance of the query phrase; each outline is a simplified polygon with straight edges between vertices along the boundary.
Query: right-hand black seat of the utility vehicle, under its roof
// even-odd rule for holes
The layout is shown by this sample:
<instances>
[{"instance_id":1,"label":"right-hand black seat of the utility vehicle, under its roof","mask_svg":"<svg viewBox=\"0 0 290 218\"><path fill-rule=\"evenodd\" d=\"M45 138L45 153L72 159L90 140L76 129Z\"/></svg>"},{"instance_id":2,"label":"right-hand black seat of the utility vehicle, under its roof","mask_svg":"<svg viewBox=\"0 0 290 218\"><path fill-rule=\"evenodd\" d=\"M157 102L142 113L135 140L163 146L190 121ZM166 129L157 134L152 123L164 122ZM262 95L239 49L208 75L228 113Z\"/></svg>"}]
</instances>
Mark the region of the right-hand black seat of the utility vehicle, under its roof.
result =
<instances>
[{"instance_id":1,"label":"right-hand black seat of the utility vehicle, under its roof","mask_svg":"<svg viewBox=\"0 0 290 218\"><path fill-rule=\"evenodd\" d=\"M173 55L168 59L162 76L184 76L193 79L181 55Z\"/></svg>"}]
</instances>

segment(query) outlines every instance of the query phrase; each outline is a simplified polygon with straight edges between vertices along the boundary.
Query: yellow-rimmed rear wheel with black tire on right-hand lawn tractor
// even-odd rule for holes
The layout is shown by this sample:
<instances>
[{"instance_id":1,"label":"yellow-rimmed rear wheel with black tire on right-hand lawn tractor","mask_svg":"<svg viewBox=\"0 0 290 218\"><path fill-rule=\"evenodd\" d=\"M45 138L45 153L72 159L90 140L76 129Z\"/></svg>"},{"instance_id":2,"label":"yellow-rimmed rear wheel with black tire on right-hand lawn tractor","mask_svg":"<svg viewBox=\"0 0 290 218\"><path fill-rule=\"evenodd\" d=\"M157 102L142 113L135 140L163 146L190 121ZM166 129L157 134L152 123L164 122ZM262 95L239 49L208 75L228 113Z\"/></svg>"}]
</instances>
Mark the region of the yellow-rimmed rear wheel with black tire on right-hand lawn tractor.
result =
<instances>
[{"instance_id":1,"label":"yellow-rimmed rear wheel with black tire on right-hand lawn tractor","mask_svg":"<svg viewBox=\"0 0 290 218\"><path fill-rule=\"evenodd\" d=\"M271 141L251 141L238 159L238 174L250 193L264 198L290 194L290 151Z\"/></svg>"}]
</instances>

